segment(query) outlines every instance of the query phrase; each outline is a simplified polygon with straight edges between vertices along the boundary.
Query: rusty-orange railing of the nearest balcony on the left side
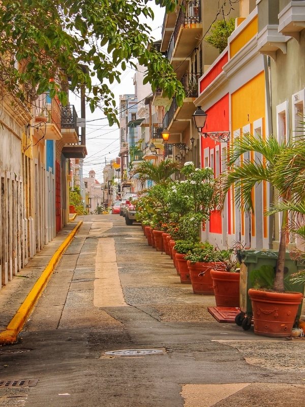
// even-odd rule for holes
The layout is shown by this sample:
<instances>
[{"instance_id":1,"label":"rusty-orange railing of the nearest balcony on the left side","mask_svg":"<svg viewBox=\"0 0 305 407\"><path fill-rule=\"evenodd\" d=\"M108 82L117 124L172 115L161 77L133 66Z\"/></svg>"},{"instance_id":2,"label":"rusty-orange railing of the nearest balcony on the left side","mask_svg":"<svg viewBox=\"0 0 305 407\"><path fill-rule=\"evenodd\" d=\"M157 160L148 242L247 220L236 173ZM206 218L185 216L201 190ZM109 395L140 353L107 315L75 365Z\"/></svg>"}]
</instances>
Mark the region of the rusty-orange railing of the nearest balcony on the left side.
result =
<instances>
[{"instance_id":1,"label":"rusty-orange railing of the nearest balcony on the left side","mask_svg":"<svg viewBox=\"0 0 305 407\"><path fill-rule=\"evenodd\" d=\"M62 110L57 98L51 99L48 93L39 95L35 102L35 118L46 123L54 123L60 130Z\"/></svg>"}]
</instances>

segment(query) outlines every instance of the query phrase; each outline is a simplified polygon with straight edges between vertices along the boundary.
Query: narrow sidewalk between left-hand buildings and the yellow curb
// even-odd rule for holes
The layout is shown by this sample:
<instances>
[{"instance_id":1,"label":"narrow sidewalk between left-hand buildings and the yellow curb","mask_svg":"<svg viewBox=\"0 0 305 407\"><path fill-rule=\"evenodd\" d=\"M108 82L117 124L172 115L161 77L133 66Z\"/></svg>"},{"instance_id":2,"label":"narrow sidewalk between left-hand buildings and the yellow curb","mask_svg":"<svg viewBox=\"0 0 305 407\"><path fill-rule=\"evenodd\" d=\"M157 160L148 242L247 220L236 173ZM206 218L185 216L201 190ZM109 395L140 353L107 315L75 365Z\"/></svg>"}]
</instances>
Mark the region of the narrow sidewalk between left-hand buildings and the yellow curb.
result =
<instances>
[{"instance_id":1,"label":"narrow sidewalk between left-hand buildings and the yellow curb","mask_svg":"<svg viewBox=\"0 0 305 407\"><path fill-rule=\"evenodd\" d=\"M19 307L24 303L26 297L34 285L41 277L43 272L49 268L53 268L53 261L57 262L60 255L56 254L56 250L68 240L73 229L77 226L82 217L74 218L67 226L60 230L57 236L47 244L39 253L37 253L28 264L20 270L17 276L14 276L12 281L7 286L3 287L0 292L0 335L6 331L12 318L16 315ZM70 243L68 243L69 246ZM67 246L67 247L68 247ZM51 263L50 263L51 262ZM52 273L51 273L52 274ZM35 303L34 298L30 299L29 303ZM31 304L29 304L31 306Z\"/></svg>"}]
</instances>

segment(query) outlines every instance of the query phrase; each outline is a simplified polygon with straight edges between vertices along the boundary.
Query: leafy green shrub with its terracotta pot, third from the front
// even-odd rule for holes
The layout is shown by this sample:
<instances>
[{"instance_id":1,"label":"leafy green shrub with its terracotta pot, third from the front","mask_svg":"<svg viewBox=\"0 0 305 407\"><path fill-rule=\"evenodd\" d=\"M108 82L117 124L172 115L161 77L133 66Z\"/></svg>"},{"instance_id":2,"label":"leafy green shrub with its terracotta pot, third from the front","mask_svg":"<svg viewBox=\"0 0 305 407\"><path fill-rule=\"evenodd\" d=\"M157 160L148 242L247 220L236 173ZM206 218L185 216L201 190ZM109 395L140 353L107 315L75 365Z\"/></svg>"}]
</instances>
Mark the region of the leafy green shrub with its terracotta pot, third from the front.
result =
<instances>
[{"instance_id":1,"label":"leafy green shrub with its terracotta pot, third from the front","mask_svg":"<svg viewBox=\"0 0 305 407\"><path fill-rule=\"evenodd\" d=\"M194 294L214 295L210 271L224 269L223 261L227 258L227 250L219 250L209 242L198 243L192 252L186 255Z\"/></svg>"}]
</instances>

